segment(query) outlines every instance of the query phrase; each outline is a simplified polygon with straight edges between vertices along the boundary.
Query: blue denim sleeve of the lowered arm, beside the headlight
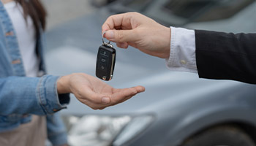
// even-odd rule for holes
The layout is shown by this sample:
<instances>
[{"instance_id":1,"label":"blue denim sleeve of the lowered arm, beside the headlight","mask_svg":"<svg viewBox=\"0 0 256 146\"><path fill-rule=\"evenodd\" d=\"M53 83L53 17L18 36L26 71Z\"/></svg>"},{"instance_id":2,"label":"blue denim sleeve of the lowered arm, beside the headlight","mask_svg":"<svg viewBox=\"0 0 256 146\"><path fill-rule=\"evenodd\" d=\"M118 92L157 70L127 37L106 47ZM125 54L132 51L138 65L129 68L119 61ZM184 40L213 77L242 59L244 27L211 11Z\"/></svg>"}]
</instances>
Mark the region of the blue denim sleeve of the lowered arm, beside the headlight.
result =
<instances>
[{"instance_id":1,"label":"blue denim sleeve of the lowered arm, beside the headlight","mask_svg":"<svg viewBox=\"0 0 256 146\"><path fill-rule=\"evenodd\" d=\"M53 145L67 144L67 131L61 120L59 112L47 115L48 139Z\"/></svg>"}]
</instances>

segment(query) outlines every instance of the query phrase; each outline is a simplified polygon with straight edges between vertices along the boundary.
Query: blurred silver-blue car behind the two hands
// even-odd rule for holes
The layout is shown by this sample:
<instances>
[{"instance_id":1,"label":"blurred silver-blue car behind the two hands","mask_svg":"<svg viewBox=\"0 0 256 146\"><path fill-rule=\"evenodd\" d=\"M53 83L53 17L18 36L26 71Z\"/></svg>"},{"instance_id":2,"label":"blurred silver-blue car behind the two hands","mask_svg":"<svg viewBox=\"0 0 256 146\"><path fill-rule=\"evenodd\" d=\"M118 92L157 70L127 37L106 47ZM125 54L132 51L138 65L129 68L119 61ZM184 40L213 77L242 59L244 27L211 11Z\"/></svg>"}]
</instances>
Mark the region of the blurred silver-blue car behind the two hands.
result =
<instances>
[{"instance_id":1,"label":"blurred silver-blue car behind the two hands","mask_svg":"<svg viewBox=\"0 0 256 146\"><path fill-rule=\"evenodd\" d=\"M165 26L256 32L253 0L115 1L47 32L49 74L95 76L101 26L110 15L136 11ZM114 45L114 43L112 43ZM146 92L105 110L91 110L72 95L61 115L74 146L255 146L256 86L171 72L165 60L116 48L115 88L143 85Z\"/></svg>"}]
</instances>

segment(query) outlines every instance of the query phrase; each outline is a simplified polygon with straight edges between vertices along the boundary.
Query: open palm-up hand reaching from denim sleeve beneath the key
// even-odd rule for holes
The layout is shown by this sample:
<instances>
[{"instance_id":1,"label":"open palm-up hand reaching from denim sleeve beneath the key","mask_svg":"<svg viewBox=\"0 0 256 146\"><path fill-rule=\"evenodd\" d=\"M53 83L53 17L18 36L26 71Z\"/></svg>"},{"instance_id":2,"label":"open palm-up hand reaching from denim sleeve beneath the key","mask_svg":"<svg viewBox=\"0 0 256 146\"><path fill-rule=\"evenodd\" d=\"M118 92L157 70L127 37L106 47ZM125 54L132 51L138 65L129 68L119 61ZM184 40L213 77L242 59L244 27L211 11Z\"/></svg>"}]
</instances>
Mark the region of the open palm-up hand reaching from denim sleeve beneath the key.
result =
<instances>
[{"instance_id":1,"label":"open palm-up hand reaching from denim sleeve beneath the key","mask_svg":"<svg viewBox=\"0 0 256 146\"><path fill-rule=\"evenodd\" d=\"M143 86L116 89L89 74L70 74L57 83L58 93L73 93L83 104L94 110L102 110L130 99L145 91Z\"/></svg>"}]
</instances>

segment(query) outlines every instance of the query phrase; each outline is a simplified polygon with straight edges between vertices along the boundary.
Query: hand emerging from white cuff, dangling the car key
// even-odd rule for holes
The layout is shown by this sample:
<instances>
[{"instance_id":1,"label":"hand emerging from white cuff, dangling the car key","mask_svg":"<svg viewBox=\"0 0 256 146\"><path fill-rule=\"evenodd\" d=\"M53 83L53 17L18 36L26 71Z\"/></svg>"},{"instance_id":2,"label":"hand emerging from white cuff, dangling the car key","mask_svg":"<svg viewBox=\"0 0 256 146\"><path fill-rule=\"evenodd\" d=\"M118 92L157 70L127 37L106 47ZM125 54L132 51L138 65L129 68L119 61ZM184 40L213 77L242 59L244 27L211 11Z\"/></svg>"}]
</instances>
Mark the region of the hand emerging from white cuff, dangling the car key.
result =
<instances>
[{"instance_id":1,"label":"hand emerging from white cuff, dangling the car key","mask_svg":"<svg viewBox=\"0 0 256 146\"><path fill-rule=\"evenodd\" d=\"M170 28L160 25L138 12L110 16L102 25L105 38L118 47L128 45L159 58L170 56Z\"/></svg>"}]
</instances>

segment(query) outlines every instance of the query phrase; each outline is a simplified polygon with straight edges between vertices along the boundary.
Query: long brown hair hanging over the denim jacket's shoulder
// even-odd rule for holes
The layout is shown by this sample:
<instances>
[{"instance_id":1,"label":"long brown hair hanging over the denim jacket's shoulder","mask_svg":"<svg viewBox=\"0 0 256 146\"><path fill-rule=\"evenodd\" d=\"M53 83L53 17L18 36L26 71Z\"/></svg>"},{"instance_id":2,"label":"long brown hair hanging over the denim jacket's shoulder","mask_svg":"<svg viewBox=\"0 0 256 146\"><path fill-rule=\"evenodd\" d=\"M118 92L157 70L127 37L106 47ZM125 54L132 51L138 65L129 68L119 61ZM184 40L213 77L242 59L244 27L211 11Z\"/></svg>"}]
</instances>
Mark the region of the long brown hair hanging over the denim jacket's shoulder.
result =
<instances>
[{"instance_id":1,"label":"long brown hair hanging over the denim jacket's shoulder","mask_svg":"<svg viewBox=\"0 0 256 146\"><path fill-rule=\"evenodd\" d=\"M39 30L42 28L45 30L46 26L46 11L39 0L15 0L21 7L23 7L24 18L29 15L34 23L36 35L39 37Z\"/></svg>"}]
</instances>

